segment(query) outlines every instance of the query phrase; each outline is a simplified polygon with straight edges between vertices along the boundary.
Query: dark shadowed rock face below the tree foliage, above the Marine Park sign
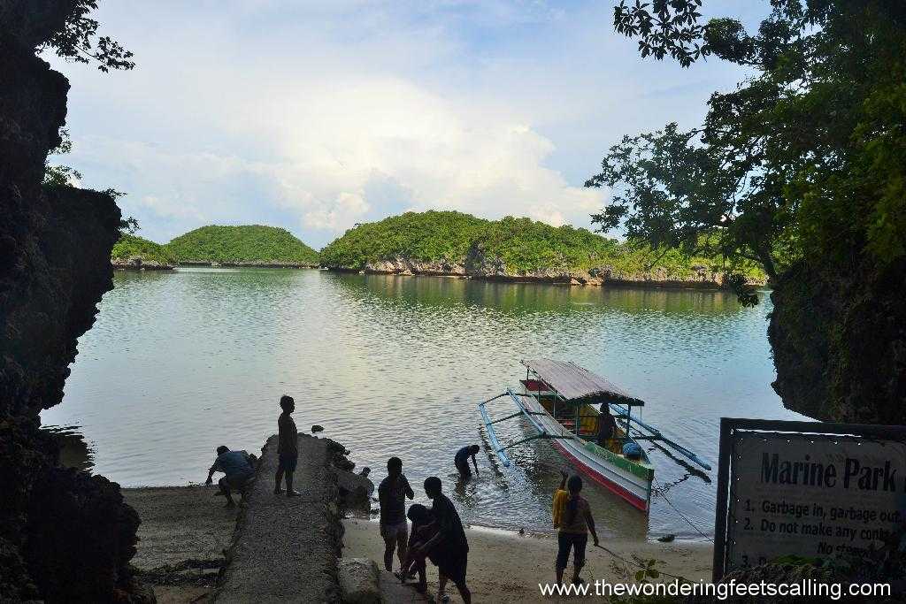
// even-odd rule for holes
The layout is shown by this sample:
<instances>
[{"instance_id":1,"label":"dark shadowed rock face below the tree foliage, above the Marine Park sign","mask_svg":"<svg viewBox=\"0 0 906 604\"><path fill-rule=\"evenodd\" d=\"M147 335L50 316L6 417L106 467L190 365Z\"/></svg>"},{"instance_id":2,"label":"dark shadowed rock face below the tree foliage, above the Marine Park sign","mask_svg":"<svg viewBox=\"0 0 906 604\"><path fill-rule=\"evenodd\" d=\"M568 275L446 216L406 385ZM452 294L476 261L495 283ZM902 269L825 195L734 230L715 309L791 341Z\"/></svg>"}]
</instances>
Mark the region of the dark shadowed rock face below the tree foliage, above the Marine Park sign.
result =
<instances>
[{"instance_id":1,"label":"dark shadowed rock face below the tree foliage, above the Marine Park sign","mask_svg":"<svg viewBox=\"0 0 906 604\"><path fill-rule=\"evenodd\" d=\"M906 424L906 263L796 265L768 338L784 405L824 421Z\"/></svg>"}]
</instances>

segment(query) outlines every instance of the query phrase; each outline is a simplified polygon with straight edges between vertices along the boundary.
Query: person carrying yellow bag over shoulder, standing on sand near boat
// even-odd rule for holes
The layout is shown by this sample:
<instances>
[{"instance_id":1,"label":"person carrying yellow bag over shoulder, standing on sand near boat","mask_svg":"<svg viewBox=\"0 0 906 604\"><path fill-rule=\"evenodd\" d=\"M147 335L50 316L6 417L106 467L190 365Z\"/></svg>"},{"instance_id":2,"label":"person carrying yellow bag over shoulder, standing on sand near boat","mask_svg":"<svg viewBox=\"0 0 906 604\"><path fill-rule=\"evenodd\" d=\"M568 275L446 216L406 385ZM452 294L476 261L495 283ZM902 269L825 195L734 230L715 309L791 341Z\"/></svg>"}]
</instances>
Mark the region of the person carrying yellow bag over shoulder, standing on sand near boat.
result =
<instances>
[{"instance_id":1,"label":"person carrying yellow bag over shoulder, standing on sand near boat","mask_svg":"<svg viewBox=\"0 0 906 604\"><path fill-rule=\"evenodd\" d=\"M573 550L573 584L582 582L579 572L585 565L585 546L588 544L588 533L592 533L594 545L598 545L598 533L594 531L592 509L580 493L582 478L577 475L566 478L560 472L560 488L554 493L554 528L557 532L557 584L563 583L564 570L569 561L570 550ZM565 488L564 488L565 487Z\"/></svg>"}]
</instances>

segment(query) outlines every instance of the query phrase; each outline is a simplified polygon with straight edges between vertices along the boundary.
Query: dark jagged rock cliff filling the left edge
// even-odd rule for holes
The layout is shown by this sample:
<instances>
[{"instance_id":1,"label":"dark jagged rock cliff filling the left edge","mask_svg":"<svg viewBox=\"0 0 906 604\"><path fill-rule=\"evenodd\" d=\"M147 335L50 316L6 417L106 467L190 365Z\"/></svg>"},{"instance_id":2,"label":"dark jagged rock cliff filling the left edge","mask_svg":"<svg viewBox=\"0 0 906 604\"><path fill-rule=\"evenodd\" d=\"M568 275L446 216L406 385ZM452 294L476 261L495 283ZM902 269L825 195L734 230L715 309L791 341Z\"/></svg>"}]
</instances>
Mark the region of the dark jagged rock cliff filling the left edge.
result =
<instances>
[{"instance_id":1,"label":"dark jagged rock cliff filling the left edge","mask_svg":"<svg viewBox=\"0 0 906 604\"><path fill-rule=\"evenodd\" d=\"M38 413L63 398L76 340L111 288L120 211L94 191L44 190L69 84L34 56L73 0L0 2L0 600L140 599L138 517L119 487L56 466ZM150 596L153 599L153 596Z\"/></svg>"}]
</instances>

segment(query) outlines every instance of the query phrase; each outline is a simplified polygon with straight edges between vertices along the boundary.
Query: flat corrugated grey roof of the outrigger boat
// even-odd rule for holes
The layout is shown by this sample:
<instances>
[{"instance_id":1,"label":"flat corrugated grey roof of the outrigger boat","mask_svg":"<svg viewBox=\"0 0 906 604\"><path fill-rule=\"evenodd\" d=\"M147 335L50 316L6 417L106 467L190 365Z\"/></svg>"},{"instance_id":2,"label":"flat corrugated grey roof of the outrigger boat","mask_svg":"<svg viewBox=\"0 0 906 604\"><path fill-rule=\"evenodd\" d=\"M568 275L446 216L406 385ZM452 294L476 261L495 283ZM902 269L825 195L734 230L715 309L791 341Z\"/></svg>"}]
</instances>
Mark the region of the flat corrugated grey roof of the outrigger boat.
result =
<instances>
[{"instance_id":1,"label":"flat corrugated grey roof of the outrigger boat","mask_svg":"<svg viewBox=\"0 0 906 604\"><path fill-rule=\"evenodd\" d=\"M579 367L573 361L535 359L523 360L522 364L543 379L548 386L568 401L582 403L621 403L642 407L645 401L635 398L625 390L612 384L588 369Z\"/></svg>"}]
</instances>

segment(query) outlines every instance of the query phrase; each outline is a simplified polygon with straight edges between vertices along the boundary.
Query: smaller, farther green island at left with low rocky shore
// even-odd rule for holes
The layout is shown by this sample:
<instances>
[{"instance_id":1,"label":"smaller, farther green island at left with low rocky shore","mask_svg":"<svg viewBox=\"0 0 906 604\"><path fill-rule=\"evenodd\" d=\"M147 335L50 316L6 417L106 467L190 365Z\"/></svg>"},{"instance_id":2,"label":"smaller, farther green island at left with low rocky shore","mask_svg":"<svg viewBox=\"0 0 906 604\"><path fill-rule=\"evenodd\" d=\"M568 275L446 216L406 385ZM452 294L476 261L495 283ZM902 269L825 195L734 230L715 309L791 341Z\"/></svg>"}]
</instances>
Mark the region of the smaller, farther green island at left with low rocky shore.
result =
<instances>
[{"instance_id":1,"label":"smaller, farther green island at left with low rocky shore","mask_svg":"<svg viewBox=\"0 0 906 604\"><path fill-rule=\"evenodd\" d=\"M164 270L175 265L314 268L318 253L284 228L263 225L202 226L157 244L123 234L113 246L114 268Z\"/></svg>"}]
</instances>

